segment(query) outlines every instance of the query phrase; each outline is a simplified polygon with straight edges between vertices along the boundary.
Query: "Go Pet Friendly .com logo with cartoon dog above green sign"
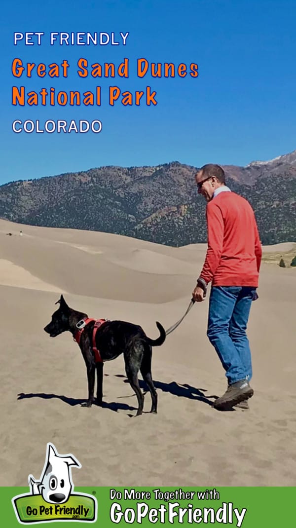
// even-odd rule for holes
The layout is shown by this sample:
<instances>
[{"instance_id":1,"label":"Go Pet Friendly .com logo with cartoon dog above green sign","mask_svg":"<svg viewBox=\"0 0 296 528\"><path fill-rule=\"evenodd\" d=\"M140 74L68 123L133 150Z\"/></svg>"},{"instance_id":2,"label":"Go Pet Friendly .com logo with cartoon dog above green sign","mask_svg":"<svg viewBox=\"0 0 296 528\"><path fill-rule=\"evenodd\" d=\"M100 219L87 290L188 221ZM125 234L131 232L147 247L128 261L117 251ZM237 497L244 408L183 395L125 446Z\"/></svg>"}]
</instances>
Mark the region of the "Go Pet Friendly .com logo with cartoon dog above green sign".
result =
<instances>
[{"instance_id":1,"label":"Go Pet Friendly .com logo with cartoon dog above green sign","mask_svg":"<svg viewBox=\"0 0 296 528\"><path fill-rule=\"evenodd\" d=\"M59 455L53 444L47 444L40 480L29 475L31 493L17 495L12 499L19 523L97 520L96 498L84 493L73 493L72 466L81 468L73 455Z\"/></svg>"}]
</instances>

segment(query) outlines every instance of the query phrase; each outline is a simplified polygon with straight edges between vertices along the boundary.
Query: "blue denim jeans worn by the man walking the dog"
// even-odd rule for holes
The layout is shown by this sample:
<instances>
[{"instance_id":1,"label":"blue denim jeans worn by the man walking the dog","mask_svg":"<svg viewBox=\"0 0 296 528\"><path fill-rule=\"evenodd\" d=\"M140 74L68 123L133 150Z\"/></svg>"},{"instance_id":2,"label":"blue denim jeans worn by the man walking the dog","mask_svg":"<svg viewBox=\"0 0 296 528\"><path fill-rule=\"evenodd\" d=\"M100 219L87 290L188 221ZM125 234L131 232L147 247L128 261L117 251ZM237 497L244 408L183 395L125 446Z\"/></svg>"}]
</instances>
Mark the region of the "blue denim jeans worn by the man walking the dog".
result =
<instances>
[{"instance_id":1,"label":"blue denim jeans worn by the man walking the dog","mask_svg":"<svg viewBox=\"0 0 296 528\"><path fill-rule=\"evenodd\" d=\"M225 369L228 384L252 378L246 326L255 291L253 286L213 286L211 289L207 336Z\"/></svg>"}]
</instances>

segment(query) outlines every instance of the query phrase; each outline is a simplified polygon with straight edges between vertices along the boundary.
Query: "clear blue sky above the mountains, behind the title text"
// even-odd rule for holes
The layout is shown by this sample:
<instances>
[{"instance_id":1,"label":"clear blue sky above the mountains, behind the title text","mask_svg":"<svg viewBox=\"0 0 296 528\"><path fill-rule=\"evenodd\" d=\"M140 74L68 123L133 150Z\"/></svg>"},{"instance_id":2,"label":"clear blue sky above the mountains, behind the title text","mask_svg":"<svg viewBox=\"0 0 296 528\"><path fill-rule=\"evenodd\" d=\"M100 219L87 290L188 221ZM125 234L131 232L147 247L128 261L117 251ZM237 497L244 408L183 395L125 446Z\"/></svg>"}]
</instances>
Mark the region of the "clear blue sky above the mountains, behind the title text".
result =
<instances>
[{"instance_id":1,"label":"clear blue sky above the mountains, behind the title text","mask_svg":"<svg viewBox=\"0 0 296 528\"><path fill-rule=\"evenodd\" d=\"M176 2L52 0L2 6L0 184L103 165L158 165L179 161L246 165L296 148L294 0ZM14 32L43 32L40 46L13 45ZM50 45L51 32L129 32L126 46ZM36 42L36 40L34 40ZM77 60L89 64L129 59L129 78L80 79ZM12 61L61 63L68 78L12 75ZM137 77L138 58L198 64L198 78ZM12 86L39 92L94 91L101 106L12 105ZM156 91L157 106L109 105L110 86ZM16 119L98 119L100 134L15 134Z\"/></svg>"}]
</instances>

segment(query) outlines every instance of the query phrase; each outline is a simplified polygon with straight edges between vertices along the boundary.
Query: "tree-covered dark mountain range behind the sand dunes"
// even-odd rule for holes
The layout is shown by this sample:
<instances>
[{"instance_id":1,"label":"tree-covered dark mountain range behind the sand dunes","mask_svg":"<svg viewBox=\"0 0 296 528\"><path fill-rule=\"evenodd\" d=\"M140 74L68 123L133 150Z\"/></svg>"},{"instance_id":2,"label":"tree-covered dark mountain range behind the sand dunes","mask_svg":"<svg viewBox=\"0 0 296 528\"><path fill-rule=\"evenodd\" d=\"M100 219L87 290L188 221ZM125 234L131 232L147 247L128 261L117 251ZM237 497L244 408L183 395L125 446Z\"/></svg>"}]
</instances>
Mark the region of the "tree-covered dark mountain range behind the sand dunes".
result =
<instances>
[{"instance_id":1,"label":"tree-covered dark mountain range behind the sand dunes","mask_svg":"<svg viewBox=\"0 0 296 528\"><path fill-rule=\"evenodd\" d=\"M224 166L227 184L256 214L263 244L296 240L296 150L268 162ZM171 162L155 167L93 168L0 186L0 217L46 227L125 234L183 246L206 242L205 202L198 168Z\"/></svg>"}]
</instances>

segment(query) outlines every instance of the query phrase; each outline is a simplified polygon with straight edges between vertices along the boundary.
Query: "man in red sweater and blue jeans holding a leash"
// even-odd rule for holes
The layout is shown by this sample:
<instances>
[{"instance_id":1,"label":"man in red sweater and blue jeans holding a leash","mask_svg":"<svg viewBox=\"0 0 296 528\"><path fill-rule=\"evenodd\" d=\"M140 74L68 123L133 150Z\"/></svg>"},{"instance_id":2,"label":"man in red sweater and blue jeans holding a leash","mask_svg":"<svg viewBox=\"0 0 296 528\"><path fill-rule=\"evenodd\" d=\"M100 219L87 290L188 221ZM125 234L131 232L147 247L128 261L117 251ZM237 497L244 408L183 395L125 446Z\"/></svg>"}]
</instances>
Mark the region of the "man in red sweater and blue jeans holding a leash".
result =
<instances>
[{"instance_id":1,"label":"man in red sweater and blue jeans holding a leash","mask_svg":"<svg viewBox=\"0 0 296 528\"><path fill-rule=\"evenodd\" d=\"M253 389L252 363L246 336L252 300L257 298L261 243L251 205L225 185L219 165L204 165L195 176L198 193L207 201L208 249L193 299L209 297L207 336L225 369L228 388L214 407L248 408Z\"/></svg>"}]
</instances>

